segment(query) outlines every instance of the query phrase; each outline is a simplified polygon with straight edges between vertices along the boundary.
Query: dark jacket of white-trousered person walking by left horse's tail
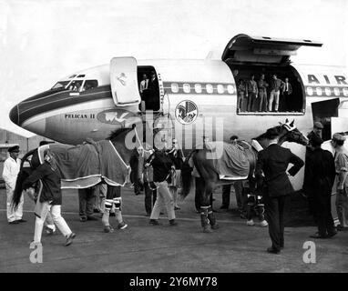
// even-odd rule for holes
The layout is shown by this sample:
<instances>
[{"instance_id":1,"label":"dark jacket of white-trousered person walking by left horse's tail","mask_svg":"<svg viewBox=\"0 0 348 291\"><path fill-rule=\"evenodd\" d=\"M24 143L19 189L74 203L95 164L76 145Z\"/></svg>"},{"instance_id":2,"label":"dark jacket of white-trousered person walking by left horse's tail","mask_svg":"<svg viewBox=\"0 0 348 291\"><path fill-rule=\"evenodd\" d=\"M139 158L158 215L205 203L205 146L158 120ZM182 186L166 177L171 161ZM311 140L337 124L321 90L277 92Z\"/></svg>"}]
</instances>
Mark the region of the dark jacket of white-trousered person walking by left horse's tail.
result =
<instances>
[{"instance_id":1,"label":"dark jacket of white-trousered person walking by left horse's tail","mask_svg":"<svg viewBox=\"0 0 348 291\"><path fill-rule=\"evenodd\" d=\"M51 166L45 162L38 166L36 170L23 182L23 188L27 189L39 179L43 184L40 195L40 202L52 201L51 205L62 205L62 192L60 190L60 176L52 170Z\"/></svg>"}]
</instances>

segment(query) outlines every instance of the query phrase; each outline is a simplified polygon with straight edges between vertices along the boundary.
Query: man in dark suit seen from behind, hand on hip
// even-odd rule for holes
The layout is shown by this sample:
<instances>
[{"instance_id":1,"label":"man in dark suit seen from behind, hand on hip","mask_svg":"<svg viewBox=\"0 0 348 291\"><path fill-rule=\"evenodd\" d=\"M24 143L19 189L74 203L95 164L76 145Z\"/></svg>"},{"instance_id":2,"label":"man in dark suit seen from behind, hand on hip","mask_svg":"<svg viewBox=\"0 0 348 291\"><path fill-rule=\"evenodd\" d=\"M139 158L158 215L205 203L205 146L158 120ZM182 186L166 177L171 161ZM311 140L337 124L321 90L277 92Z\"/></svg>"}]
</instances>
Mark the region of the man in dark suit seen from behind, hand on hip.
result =
<instances>
[{"instance_id":1,"label":"man in dark suit seen from behind, hand on hip","mask_svg":"<svg viewBox=\"0 0 348 291\"><path fill-rule=\"evenodd\" d=\"M270 139L270 146L259 153L255 176L258 187L263 189L266 220L271 236L272 246L267 251L271 254L280 254L281 248L284 247L285 197L293 192L288 175L295 176L304 163L300 157L292 154L290 149L277 144L279 132L276 128L267 130L266 135ZM289 164L293 166L286 173Z\"/></svg>"}]
</instances>

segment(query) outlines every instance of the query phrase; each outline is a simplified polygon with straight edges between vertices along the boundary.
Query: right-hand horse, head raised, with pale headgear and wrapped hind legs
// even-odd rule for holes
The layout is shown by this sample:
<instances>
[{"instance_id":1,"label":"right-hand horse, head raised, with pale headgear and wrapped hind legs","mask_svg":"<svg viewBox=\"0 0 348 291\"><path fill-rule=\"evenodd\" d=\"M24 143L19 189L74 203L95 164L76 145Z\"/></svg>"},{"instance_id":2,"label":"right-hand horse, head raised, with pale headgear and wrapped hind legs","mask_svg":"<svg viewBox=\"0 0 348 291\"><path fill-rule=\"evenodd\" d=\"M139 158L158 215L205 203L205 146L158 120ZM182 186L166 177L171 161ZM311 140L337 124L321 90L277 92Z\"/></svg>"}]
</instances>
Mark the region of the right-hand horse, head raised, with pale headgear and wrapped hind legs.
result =
<instances>
[{"instance_id":1,"label":"right-hand horse, head raised, with pale headgear and wrapped hind legs","mask_svg":"<svg viewBox=\"0 0 348 291\"><path fill-rule=\"evenodd\" d=\"M302 146L308 144L308 138L302 135L296 126L294 126L294 121L290 123L286 120L284 124L280 123L280 125L274 126L274 128L279 133L278 145L280 146L286 141L297 143ZM253 138L251 142L259 146L259 151L269 145L269 139L266 133ZM224 144L226 145L226 143ZM253 193L256 188L256 180L253 177L253 172L256 166L258 150L253 146L249 146L249 150L245 150L247 162L249 163L249 174L243 179L249 180L251 193ZM181 168L182 191L180 195L182 200L189 195L191 186L191 172L193 167L189 165L190 159L200 175L200 183L198 183L196 187L198 187L197 192L200 195L200 223L205 233L210 233L212 229L217 229L219 227L210 206L210 196L213 190L216 186L228 185L233 181L230 179L220 179L219 173L214 166L216 160L214 161L214 159L211 158L208 159L207 155L209 154L210 150L207 146L204 146L202 149L194 149L189 153L189 156L186 157Z\"/></svg>"}]
</instances>

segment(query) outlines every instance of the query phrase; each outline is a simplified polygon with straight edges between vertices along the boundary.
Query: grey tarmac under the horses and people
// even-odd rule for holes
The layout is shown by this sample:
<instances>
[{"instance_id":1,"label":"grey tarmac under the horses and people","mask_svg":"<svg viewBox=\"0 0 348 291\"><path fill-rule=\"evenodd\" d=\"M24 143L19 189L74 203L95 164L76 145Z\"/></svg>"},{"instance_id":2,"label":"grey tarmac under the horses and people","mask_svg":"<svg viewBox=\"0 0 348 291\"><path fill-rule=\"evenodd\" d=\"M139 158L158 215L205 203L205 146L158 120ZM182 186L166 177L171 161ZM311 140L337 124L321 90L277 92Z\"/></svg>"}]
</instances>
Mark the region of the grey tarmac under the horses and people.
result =
<instances>
[{"instance_id":1,"label":"grey tarmac under the horses and people","mask_svg":"<svg viewBox=\"0 0 348 291\"><path fill-rule=\"evenodd\" d=\"M235 200L231 195L231 206ZM190 194L176 211L179 226L169 226L166 214L162 226L151 226L145 216L144 195L122 188L124 230L103 232L101 221L80 222L77 190L63 191L63 216L77 234L71 246L64 246L60 233L43 236L42 263L32 263L29 248L34 236L34 204L25 197L26 223L8 225L5 189L0 189L0 272L115 272L115 273L231 273L231 272L347 272L348 231L331 239L312 239L315 226L285 228L285 248L271 255L268 227L246 226L235 211L222 211L220 190L214 195L214 209L220 228L202 233L200 215ZM110 222L117 226L113 217ZM306 243L307 242L307 243ZM312 263L303 260L311 247ZM311 243L310 243L311 244ZM314 249L315 248L315 249ZM306 253L307 252L307 253ZM314 262L315 261L315 262ZM306 263L307 262L307 263Z\"/></svg>"}]
</instances>

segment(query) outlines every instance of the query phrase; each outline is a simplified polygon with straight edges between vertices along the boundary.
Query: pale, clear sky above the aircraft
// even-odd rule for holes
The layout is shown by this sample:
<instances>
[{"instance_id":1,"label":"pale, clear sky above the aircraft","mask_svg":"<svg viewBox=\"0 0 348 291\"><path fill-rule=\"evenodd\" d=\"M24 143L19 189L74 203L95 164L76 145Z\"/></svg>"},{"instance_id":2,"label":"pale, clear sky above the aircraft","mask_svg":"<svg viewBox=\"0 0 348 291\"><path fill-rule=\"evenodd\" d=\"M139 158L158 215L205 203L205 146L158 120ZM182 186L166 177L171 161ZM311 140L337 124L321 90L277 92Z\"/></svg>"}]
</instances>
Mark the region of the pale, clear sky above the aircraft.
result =
<instances>
[{"instance_id":1,"label":"pale, clear sky above the aircraft","mask_svg":"<svg viewBox=\"0 0 348 291\"><path fill-rule=\"evenodd\" d=\"M312 39L292 61L348 66L347 0L0 0L0 127L18 102L114 56L220 56L234 35Z\"/></svg>"}]
</instances>

